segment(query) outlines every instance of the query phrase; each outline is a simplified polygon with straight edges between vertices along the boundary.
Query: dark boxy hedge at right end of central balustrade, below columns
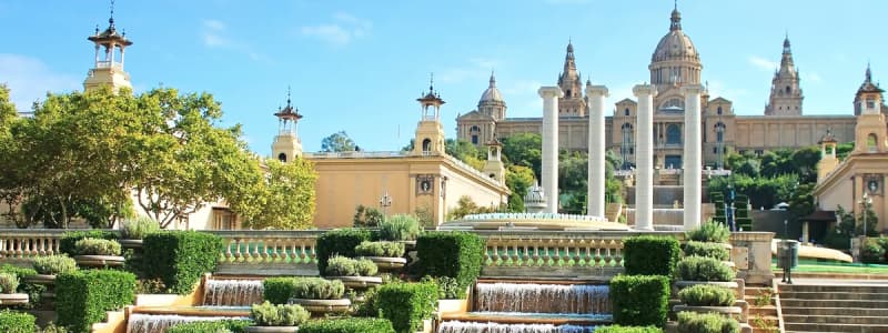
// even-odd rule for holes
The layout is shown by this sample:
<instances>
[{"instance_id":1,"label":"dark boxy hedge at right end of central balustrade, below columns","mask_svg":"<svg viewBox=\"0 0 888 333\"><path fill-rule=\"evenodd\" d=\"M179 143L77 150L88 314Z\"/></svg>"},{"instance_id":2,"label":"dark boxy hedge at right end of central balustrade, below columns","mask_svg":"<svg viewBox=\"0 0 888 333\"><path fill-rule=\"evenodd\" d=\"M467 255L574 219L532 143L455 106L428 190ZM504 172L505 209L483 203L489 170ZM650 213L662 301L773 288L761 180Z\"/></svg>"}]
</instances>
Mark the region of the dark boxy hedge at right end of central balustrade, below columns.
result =
<instances>
[{"instance_id":1,"label":"dark boxy hedge at right end of central balustrade, below columns","mask_svg":"<svg viewBox=\"0 0 888 333\"><path fill-rule=\"evenodd\" d=\"M628 275L673 276L680 251L674 238L628 238L623 241L623 266Z\"/></svg>"}]
</instances>

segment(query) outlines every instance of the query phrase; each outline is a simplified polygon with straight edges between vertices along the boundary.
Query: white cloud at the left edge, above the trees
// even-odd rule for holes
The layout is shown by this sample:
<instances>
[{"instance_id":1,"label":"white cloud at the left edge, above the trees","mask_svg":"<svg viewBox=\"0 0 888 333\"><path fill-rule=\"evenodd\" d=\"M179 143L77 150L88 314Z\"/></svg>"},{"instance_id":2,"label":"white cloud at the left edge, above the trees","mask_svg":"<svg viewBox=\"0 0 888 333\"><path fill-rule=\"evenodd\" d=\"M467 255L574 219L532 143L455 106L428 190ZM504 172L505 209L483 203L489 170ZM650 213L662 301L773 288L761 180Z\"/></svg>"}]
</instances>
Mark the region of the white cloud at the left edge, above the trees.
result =
<instances>
[{"instance_id":1,"label":"white cloud at the left edge, above the trees","mask_svg":"<svg viewBox=\"0 0 888 333\"><path fill-rule=\"evenodd\" d=\"M21 54L0 53L0 83L7 83L10 99L19 111L30 111L31 104L46 97L47 91L62 92L80 88L81 79L53 72L43 61Z\"/></svg>"}]
</instances>

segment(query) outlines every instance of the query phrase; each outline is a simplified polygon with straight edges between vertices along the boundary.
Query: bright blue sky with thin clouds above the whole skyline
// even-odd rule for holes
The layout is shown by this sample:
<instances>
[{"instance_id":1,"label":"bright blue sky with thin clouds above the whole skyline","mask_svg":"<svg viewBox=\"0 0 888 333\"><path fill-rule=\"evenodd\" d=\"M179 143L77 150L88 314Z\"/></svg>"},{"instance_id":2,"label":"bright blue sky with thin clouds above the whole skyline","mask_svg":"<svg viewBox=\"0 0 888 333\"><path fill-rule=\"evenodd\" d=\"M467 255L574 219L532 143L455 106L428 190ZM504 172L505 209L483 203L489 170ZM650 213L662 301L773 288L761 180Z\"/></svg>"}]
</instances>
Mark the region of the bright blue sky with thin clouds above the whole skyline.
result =
<instances>
[{"instance_id":1,"label":"bright blue sky with thin clouds above the whole skyline","mask_svg":"<svg viewBox=\"0 0 888 333\"><path fill-rule=\"evenodd\" d=\"M851 114L867 61L888 73L888 2L679 1L683 28L703 61L710 94L738 114L763 114L789 32L801 74L805 114ZM568 39L577 67L610 89L609 103L648 80L669 0L503 1L121 1L114 18L134 44L127 71L137 92L159 84L208 91L225 122L242 123L250 147L269 154L272 115L293 103L305 117L306 151L344 130L365 150L398 150L420 119L415 99L430 72L455 118L473 110L491 70L508 117L539 117L539 85L557 80ZM82 89L92 65L87 37L108 26L109 2L0 1L0 82L20 110L47 91ZM888 74L886 74L888 75Z\"/></svg>"}]
</instances>

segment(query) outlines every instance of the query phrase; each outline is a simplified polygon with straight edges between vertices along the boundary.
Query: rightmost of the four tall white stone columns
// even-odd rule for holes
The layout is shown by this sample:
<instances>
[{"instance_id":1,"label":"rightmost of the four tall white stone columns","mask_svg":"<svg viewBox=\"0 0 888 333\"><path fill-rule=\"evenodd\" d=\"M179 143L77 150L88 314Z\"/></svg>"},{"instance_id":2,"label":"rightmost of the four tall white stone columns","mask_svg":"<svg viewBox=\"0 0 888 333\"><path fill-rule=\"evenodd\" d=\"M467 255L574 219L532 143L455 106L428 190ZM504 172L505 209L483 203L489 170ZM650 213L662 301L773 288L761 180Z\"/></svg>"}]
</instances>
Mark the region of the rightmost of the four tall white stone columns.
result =
<instances>
[{"instance_id":1,"label":"rightmost of the four tall white stone columns","mask_svg":"<svg viewBox=\"0 0 888 333\"><path fill-rule=\"evenodd\" d=\"M685 230L700 225L703 200L703 129L700 114L700 85L682 87L685 95Z\"/></svg>"}]
</instances>

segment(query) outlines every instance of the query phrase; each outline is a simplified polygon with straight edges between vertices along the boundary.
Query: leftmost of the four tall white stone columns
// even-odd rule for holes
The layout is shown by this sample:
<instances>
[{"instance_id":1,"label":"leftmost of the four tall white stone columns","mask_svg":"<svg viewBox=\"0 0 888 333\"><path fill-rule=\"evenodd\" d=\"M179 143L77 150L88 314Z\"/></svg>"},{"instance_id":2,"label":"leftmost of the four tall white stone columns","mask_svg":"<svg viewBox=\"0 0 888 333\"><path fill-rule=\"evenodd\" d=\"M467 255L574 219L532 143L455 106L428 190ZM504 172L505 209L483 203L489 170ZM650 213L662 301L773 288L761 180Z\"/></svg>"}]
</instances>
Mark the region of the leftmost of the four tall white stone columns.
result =
<instances>
[{"instance_id":1,"label":"leftmost of the four tall white stone columns","mask_svg":"<svg viewBox=\"0 0 888 333\"><path fill-rule=\"evenodd\" d=\"M548 196L546 213L558 212L558 87L539 88L543 98L543 192Z\"/></svg>"}]
</instances>

